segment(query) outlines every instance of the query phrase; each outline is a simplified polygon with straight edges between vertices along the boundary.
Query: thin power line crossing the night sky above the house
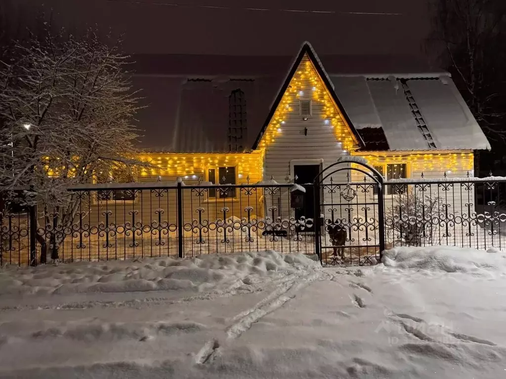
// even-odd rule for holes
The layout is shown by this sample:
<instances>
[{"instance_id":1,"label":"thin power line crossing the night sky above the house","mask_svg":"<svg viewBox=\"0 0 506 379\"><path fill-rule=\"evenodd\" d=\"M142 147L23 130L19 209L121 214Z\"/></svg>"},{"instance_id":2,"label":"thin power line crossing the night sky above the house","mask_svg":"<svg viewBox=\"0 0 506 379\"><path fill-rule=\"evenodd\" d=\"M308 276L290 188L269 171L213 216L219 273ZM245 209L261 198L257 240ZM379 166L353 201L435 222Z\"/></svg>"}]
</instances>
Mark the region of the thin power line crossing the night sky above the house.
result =
<instances>
[{"instance_id":1,"label":"thin power line crossing the night sky above the house","mask_svg":"<svg viewBox=\"0 0 506 379\"><path fill-rule=\"evenodd\" d=\"M181 8L207 8L207 9L231 9L231 10L244 10L244 11L257 11L257 12L290 12L290 13L312 13L312 14L347 14L347 15L372 15L372 16L402 16L402 13L388 13L388 12L343 12L343 11L320 11L310 9L269 9L269 8L244 8L244 7L227 7L220 5L190 5L178 3L160 3L160 2L141 2L137 0L107 0L114 3L129 3L140 5L156 5L165 7L181 7Z\"/></svg>"}]
</instances>

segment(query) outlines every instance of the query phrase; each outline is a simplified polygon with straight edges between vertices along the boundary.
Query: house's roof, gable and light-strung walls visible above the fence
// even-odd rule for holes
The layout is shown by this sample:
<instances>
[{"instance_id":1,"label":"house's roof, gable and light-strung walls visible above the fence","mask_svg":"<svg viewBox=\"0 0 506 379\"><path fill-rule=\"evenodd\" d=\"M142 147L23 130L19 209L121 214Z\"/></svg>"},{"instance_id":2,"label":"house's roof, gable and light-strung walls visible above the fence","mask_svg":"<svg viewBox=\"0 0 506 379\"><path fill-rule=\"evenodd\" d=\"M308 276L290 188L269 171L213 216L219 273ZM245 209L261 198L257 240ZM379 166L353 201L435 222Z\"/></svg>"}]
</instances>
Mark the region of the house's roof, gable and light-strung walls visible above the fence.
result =
<instances>
[{"instance_id":1,"label":"house's roof, gable and light-strung walls visible above the fence","mask_svg":"<svg viewBox=\"0 0 506 379\"><path fill-rule=\"evenodd\" d=\"M364 157L386 179L465 177L473 152L490 149L446 72L320 60L309 43L287 72L275 58L270 71L268 58L248 59L243 71L237 61L213 70L181 58L178 72L168 71L177 60L149 70L140 60L134 84L149 105L139 115L141 159L156 166L140 181L305 184L343 155Z\"/></svg>"}]
</instances>

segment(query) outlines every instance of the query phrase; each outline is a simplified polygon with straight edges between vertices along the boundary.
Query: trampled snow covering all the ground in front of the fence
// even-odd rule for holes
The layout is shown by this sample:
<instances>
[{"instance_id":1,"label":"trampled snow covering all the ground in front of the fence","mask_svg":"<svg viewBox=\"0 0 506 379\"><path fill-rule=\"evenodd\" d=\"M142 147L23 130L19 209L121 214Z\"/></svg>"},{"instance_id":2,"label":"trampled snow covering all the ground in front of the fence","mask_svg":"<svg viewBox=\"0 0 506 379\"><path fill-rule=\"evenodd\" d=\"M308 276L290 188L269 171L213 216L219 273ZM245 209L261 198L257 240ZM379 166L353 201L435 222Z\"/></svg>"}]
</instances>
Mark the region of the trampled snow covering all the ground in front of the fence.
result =
<instances>
[{"instance_id":1,"label":"trampled snow covering all the ground in front of the fence","mask_svg":"<svg viewBox=\"0 0 506 379\"><path fill-rule=\"evenodd\" d=\"M396 248L0 270L0 377L498 378L506 254Z\"/></svg>"}]
</instances>

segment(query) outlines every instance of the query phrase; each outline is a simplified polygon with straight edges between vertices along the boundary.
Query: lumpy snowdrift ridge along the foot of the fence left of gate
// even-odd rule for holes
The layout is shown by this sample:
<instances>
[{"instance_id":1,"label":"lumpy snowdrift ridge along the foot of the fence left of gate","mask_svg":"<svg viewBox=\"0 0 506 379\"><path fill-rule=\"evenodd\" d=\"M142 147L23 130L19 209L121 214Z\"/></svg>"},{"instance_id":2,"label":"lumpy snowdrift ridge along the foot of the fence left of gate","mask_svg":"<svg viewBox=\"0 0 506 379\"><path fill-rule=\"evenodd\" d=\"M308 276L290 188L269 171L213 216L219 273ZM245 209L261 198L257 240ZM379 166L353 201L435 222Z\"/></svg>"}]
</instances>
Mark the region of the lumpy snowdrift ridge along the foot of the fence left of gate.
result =
<instances>
[{"instance_id":1,"label":"lumpy snowdrift ridge along the foot of the fence left of gate","mask_svg":"<svg viewBox=\"0 0 506 379\"><path fill-rule=\"evenodd\" d=\"M199 255L190 259L143 258L104 263L76 262L0 271L0 295L122 293L159 290L206 291L240 288L254 277L282 276L319 264L302 254L275 251Z\"/></svg>"}]
</instances>

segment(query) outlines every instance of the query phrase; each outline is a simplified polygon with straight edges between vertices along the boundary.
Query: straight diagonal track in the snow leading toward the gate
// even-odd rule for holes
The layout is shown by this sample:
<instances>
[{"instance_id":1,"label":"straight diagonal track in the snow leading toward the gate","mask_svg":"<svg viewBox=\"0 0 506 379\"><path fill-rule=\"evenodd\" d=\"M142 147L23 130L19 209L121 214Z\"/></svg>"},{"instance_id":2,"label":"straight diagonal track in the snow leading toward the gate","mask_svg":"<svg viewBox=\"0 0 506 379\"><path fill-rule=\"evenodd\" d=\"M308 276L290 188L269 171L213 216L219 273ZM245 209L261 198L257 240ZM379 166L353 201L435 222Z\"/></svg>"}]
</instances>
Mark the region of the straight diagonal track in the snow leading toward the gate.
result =
<instances>
[{"instance_id":1,"label":"straight diagonal track in the snow leading toward the gate","mask_svg":"<svg viewBox=\"0 0 506 379\"><path fill-rule=\"evenodd\" d=\"M244 331L248 330L252 324L283 306L287 301L293 299L298 291L307 287L309 283L321 278L321 276L321 273L315 272L310 275L299 276L286 281L283 283L282 287L272 292L264 300L257 303L257 305L233 317L232 320L237 321L226 329L228 338L238 338Z\"/></svg>"}]
</instances>

